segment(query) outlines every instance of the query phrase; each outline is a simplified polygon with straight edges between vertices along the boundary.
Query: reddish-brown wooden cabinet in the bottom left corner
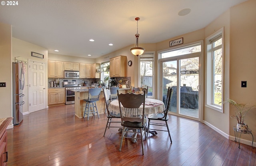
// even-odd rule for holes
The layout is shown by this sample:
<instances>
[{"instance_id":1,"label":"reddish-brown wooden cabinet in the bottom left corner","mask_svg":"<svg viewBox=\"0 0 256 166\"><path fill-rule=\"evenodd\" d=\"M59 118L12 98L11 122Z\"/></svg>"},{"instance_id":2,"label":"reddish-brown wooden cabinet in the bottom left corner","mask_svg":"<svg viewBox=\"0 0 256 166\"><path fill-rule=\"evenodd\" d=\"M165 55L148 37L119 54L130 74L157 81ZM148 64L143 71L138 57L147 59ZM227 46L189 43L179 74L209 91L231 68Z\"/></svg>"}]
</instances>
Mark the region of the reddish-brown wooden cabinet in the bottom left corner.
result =
<instances>
[{"instance_id":1,"label":"reddish-brown wooden cabinet in the bottom left corner","mask_svg":"<svg viewBox=\"0 0 256 166\"><path fill-rule=\"evenodd\" d=\"M6 128L12 121L12 118L1 118L0 122L0 166L7 166L7 132Z\"/></svg>"}]
</instances>

